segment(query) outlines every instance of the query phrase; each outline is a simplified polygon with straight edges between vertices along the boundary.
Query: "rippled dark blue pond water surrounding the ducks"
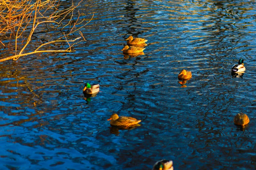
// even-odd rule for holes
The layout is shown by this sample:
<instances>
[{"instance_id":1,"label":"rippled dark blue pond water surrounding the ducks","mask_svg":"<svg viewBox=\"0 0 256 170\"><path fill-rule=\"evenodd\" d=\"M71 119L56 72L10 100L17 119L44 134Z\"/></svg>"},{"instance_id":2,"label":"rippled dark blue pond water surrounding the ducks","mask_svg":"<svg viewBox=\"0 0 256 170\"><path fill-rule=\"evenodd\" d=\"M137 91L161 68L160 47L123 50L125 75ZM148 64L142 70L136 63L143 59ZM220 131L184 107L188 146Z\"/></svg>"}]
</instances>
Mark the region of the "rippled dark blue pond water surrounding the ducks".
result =
<instances>
[{"instance_id":1,"label":"rippled dark blue pond water surrounding the ducks","mask_svg":"<svg viewBox=\"0 0 256 170\"><path fill-rule=\"evenodd\" d=\"M80 13L94 18L76 52L0 63L0 169L139 170L161 159L175 170L256 169L255 6L84 1ZM123 55L128 35L148 40L144 55ZM232 76L240 58L246 72ZM90 99L87 81L100 84ZM241 112L245 129L233 124ZM141 126L111 128L112 113Z\"/></svg>"}]
</instances>

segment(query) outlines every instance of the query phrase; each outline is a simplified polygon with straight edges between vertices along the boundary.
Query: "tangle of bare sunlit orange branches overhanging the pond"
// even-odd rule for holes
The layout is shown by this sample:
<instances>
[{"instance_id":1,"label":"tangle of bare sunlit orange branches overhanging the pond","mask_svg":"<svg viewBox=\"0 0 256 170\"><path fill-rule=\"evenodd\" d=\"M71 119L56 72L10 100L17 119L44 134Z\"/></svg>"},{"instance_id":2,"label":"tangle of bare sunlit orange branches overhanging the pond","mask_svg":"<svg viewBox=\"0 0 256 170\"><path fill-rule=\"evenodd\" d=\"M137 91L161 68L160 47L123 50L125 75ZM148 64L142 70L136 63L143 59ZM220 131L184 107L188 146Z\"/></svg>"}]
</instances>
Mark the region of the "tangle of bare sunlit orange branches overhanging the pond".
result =
<instances>
[{"instance_id":1,"label":"tangle of bare sunlit orange branches overhanging the pond","mask_svg":"<svg viewBox=\"0 0 256 170\"><path fill-rule=\"evenodd\" d=\"M71 52L76 43L84 40L80 29L93 19L80 19L79 4L62 7L59 0L0 0L0 49L11 54L0 62L40 52ZM33 37L53 32L59 35L33 42ZM53 49L56 45L62 48Z\"/></svg>"}]
</instances>

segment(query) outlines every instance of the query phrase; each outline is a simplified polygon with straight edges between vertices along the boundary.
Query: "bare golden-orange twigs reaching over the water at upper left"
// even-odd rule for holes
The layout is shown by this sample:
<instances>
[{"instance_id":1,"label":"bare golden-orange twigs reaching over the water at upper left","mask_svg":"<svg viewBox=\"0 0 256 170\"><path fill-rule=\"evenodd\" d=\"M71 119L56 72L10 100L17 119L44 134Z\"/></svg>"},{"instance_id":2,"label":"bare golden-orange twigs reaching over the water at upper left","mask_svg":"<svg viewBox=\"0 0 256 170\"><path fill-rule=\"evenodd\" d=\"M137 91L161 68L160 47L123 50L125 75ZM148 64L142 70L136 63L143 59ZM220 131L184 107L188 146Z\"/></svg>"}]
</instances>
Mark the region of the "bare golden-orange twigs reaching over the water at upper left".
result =
<instances>
[{"instance_id":1,"label":"bare golden-orange twigs reaching over the water at upper left","mask_svg":"<svg viewBox=\"0 0 256 170\"><path fill-rule=\"evenodd\" d=\"M13 42L12 40L15 39L15 55L0 59L0 62L10 59L17 60L19 57L40 52L71 52L71 47L76 43L70 44L70 42L75 42L80 37L69 39L69 35L77 33L83 37L80 29L89 23L94 17L93 15L90 21L80 27L77 27L77 25L84 22L84 20L79 19L79 11L77 20L73 21L74 10L80 5L80 2L76 5L72 3L71 7L59 10L58 7L60 2L58 0L35 1L35 3L32 3L32 0L0 0L0 37L1 35L8 35L9 43ZM61 35L56 40L39 45L37 48L34 47L35 49L31 52L31 37L36 34L35 31L39 26L46 25L47 28L50 26L51 29L38 33L51 32L59 28L60 25L62 25L62 22L68 18L68 23L65 23L61 28L61 31L68 29L68 31L66 31L67 34ZM29 34L28 30L30 30ZM24 39L26 39L25 44L23 44ZM67 42L69 47L63 50L45 49L47 45L59 42ZM0 45L1 44L6 48L4 43L0 41ZM18 49L21 50L18 52ZM28 51L27 49L30 50Z\"/></svg>"}]
</instances>

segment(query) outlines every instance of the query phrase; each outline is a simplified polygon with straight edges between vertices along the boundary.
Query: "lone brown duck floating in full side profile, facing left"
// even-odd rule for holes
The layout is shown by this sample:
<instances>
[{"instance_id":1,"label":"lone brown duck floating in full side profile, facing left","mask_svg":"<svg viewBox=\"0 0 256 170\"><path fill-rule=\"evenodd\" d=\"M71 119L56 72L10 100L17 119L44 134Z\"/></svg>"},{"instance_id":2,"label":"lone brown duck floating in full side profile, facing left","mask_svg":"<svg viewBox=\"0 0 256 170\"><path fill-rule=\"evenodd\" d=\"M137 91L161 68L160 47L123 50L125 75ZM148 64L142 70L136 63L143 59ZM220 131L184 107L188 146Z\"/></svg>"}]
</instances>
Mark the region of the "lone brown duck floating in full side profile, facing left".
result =
<instances>
[{"instance_id":1,"label":"lone brown duck floating in full side profile, facing left","mask_svg":"<svg viewBox=\"0 0 256 170\"><path fill-rule=\"evenodd\" d=\"M141 122L141 120L137 120L132 117L119 117L116 113L113 113L108 120L110 120L110 124L114 126L130 126Z\"/></svg>"}]
</instances>

